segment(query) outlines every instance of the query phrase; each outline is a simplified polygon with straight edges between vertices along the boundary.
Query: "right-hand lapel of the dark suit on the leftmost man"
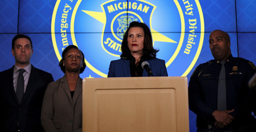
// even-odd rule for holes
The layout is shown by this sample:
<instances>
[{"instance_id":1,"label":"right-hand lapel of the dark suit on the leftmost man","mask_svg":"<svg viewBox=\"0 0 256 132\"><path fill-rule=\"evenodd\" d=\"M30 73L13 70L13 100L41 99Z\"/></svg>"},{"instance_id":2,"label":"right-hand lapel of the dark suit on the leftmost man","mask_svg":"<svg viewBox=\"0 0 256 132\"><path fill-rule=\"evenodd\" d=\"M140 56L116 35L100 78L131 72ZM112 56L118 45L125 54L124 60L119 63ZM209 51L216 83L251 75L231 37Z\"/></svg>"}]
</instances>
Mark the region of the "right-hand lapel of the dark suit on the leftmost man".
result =
<instances>
[{"instance_id":1,"label":"right-hand lapel of the dark suit on the leftmost man","mask_svg":"<svg viewBox=\"0 0 256 132\"><path fill-rule=\"evenodd\" d=\"M28 79L28 85L27 85L26 91L24 93L24 96L23 96L23 99L22 99L20 105L22 105L23 102L28 98L28 95L34 89L38 79L39 79L39 74L37 73L36 68L31 65L31 71L30 71L30 75L29 75L29 79Z\"/></svg>"}]
</instances>

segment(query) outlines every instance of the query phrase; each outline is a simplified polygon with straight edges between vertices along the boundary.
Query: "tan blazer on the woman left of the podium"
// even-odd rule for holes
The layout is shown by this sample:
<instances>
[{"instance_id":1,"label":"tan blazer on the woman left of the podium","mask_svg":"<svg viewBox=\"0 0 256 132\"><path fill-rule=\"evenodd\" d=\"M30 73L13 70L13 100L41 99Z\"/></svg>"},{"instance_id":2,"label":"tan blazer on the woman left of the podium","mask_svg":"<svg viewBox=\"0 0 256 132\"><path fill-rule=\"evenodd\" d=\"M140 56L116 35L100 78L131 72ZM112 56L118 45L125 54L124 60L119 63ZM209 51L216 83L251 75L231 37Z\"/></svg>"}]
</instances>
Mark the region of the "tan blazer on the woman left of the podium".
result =
<instances>
[{"instance_id":1,"label":"tan blazer on the woman left of the podium","mask_svg":"<svg viewBox=\"0 0 256 132\"><path fill-rule=\"evenodd\" d=\"M45 132L82 132L82 81L76 83L73 100L66 76L48 85L41 113Z\"/></svg>"}]
</instances>

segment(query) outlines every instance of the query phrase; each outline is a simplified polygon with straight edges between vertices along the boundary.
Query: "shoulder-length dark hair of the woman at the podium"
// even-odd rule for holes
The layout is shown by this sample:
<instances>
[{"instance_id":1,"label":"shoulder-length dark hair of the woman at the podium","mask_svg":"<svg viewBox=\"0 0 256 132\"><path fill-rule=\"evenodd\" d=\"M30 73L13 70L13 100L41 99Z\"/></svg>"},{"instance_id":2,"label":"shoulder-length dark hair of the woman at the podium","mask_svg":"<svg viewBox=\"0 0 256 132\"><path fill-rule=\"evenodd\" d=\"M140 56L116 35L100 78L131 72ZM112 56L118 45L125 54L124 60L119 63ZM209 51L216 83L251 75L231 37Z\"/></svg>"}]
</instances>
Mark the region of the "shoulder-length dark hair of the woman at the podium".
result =
<instances>
[{"instance_id":1,"label":"shoulder-length dark hair of the woman at the podium","mask_svg":"<svg viewBox=\"0 0 256 132\"><path fill-rule=\"evenodd\" d=\"M154 47L153 47L153 42L152 42L152 35L151 35L151 32L148 28L148 26L144 23L139 23L139 22L131 22L130 23L130 26L128 27L128 29L125 31L124 33L124 37L123 37L123 42L122 42L122 45L121 45L121 50L122 50L122 54L120 55L120 57L122 59L125 59L127 58L129 55L131 55L131 51L128 47L128 41L127 41L127 38L128 38L128 32L129 30L132 28L132 27L141 27L144 31L144 42L143 42L143 56L146 58L146 59L153 59L153 58L156 58L156 53L159 51L159 50L156 50Z\"/></svg>"}]
</instances>

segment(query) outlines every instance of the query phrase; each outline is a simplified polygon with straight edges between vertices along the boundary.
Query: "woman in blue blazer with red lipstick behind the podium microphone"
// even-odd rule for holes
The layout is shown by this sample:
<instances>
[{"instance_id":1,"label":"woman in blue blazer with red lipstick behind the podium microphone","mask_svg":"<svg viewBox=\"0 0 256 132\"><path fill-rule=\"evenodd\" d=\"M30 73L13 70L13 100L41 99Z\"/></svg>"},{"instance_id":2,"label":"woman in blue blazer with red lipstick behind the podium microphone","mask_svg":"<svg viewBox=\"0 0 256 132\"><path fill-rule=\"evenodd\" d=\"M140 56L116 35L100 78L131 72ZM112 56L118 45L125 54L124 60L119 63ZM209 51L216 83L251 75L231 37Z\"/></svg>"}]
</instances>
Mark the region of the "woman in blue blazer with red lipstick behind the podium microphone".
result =
<instances>
[{"instance_id":1,"label":"woman in blue blazer with red lipstick behind the podium microphone","mask_svg":"<svg viewBox=\"0 0 256 132\"><path fill-rule=\"evenodd\" d=\"M121 59L110 62L108 77L168 76L165 61L156 58L152 35L144 23L132 22L125 31Z\"/></svg>"}]
</instances>

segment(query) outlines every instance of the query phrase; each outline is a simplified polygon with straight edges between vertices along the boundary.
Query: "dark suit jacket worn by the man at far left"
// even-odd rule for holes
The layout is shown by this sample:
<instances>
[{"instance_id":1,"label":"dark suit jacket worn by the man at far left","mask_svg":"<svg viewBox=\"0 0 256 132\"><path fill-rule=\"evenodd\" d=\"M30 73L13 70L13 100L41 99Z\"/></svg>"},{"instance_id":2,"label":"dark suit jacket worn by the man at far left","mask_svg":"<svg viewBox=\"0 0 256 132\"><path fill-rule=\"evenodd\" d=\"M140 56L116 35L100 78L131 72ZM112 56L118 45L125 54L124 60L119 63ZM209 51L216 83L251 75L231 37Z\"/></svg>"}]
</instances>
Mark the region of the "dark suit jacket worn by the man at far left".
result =
<instances>
[{"instance_id":1,"label":"dark suit jacket worn by the man at far left","mask_svg":"<svg viewBox=\"0 0 256 132\"><path fill-rule=\"evenodd\" d=\"M44 132L41 110L46 87L54 81L52 74L31 65L26 92L19 104L13 87L13 71L14 66L0 72L0 131L17 131L19 121L20 131Z\"/></svg>"}]
</instances>

